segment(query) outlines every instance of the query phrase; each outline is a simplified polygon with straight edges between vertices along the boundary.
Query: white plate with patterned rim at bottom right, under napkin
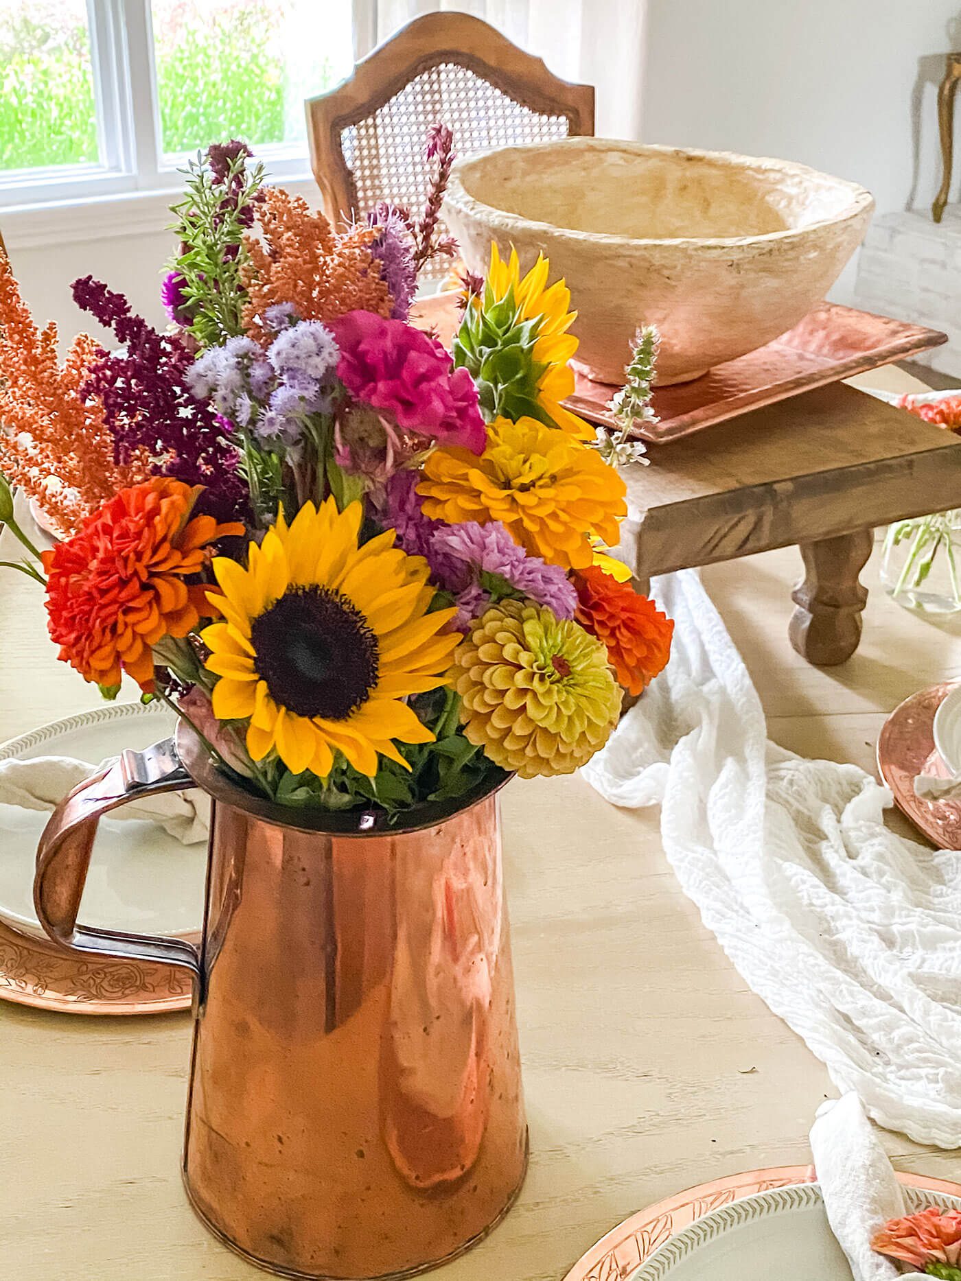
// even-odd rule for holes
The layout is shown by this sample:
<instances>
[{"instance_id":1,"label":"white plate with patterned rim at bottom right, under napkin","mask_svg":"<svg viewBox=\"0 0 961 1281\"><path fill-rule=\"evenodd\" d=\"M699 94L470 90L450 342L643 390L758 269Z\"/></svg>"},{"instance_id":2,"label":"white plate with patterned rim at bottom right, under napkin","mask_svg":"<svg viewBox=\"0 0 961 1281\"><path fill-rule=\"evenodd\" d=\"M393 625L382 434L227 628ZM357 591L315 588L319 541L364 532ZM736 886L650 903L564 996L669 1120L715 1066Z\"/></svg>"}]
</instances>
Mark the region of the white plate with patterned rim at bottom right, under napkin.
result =
<instances>
[{"instance_id":1,"label":"white plate with patterned rim at bottom right, under napkin","mask_svg":"<svg viewBox=\"0 0 961 1281\"><path fill-rule=\"evenodd\" d=\"M961 1209L961 1198L905 1187L908 1212ZM852 1281L817 1184L755 1193L698 1218L624 1281Z\"/></svg>"}]
</instances>

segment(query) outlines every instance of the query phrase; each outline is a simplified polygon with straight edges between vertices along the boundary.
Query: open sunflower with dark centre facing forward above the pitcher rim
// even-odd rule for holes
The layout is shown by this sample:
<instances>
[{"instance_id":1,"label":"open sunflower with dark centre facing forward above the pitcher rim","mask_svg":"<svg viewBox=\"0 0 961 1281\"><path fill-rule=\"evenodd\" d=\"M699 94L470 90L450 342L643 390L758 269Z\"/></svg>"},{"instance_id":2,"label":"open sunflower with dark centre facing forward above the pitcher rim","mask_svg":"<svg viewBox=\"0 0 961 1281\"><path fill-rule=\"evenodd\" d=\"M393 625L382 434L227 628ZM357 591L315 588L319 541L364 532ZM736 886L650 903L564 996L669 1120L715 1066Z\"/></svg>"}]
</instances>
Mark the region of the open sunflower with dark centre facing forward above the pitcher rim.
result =
<instances>
[{"instance_id":1,"label":"open sunflower with dark centre facing forward above the pitcher rim","mask_svg":"<svg viewBox=\"0 0 961 1281\"><path fill-rule=\"evenodd\" d=\"M395 548L395 532L357 546L363 509L305 503L283 512L247 567L218 557L223 614L202 633L218 720L249 720L255 761L275 752L293 774L325 779L342 756L373 778L378 753L398 765L401 743L433 734L402 702L446 683L460 637L441 635L455 610L427 614L434 589L420 556Z\"/></svg>"}]
</instances>

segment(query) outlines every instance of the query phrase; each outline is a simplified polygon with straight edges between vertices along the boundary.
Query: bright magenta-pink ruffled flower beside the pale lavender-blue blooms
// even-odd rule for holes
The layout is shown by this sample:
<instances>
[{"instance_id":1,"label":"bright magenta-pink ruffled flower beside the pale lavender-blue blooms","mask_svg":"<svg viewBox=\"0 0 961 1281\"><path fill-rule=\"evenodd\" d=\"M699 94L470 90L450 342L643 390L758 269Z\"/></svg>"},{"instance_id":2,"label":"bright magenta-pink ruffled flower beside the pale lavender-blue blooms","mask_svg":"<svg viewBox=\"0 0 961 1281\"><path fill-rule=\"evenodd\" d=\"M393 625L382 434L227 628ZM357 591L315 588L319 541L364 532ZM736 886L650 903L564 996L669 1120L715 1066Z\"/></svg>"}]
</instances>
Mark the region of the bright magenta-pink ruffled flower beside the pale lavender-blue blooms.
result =
<instances>
[{"instance_id":1,"label":"bright magenta-pink ruffled flower beside the pale lavender-blue blooms","mask_svg":"<svg viewBox=\"0 0 961 1281\"><path fill-rule=\"evenodd\" d=\"M355 400L406 430L483 453L487 428L474 379L466 369L451 369L438 342L373 311L349 311L329 328L341 350L337 377Z\"/></svg>"}]
</instances>

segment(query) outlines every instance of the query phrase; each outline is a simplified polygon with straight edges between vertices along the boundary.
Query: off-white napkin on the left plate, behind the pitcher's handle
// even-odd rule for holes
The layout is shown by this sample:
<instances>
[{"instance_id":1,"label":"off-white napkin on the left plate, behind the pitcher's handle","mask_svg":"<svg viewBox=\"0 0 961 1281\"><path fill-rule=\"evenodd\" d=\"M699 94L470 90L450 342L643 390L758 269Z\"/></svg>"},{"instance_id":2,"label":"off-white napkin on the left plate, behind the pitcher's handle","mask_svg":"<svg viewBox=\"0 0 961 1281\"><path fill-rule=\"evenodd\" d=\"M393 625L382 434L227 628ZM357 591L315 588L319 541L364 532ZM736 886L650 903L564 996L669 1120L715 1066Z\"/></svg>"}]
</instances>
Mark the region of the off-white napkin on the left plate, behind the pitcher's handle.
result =
<instances>
[{"instance_id":1,"label":"off-white napkin on the left plate, behind the pitcher's handle","mask_svg":"<svg viewBox=\"0 0 961 1281\"><path fill-rule=\"evenodd\" d=\"M90 765L67 756L0 761L0 804L53 812L68 792L99 774L108 763L110 762ZM131 801L119 810L113 810L110 817L146 819L159 824L181 844L195 845L206 840L210 802L196 788L190 792L165 792Z\"/></svg>"}]
</instances>

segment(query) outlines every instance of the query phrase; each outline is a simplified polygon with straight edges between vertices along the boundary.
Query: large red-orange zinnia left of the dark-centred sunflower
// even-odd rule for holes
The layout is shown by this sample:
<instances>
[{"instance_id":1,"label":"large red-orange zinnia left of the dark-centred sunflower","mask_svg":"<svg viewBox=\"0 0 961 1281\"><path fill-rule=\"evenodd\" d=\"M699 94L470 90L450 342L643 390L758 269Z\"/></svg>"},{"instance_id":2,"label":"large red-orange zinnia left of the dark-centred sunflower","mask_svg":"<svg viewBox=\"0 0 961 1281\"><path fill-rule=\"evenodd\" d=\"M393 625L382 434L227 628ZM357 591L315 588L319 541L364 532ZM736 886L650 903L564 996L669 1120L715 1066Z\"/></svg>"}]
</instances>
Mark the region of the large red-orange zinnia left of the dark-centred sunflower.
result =
<instances>
[{"instance_id":1,"label":"large red-orange zinnia left of the dark-centred sunflower","mask_svg":"<svg viewBox=\"0 0 961 1281\"><path fill-rule=\"evenodd\" d=\"M85 680L111 688L126 671L154 684L150 647L185 637L210 616L197 574L209 544L241 524L190 519L200 488L158 477L122 489L73 538L44 552L47 629L60 658Z\"/></svg>"}]
</instances>

